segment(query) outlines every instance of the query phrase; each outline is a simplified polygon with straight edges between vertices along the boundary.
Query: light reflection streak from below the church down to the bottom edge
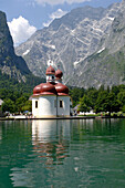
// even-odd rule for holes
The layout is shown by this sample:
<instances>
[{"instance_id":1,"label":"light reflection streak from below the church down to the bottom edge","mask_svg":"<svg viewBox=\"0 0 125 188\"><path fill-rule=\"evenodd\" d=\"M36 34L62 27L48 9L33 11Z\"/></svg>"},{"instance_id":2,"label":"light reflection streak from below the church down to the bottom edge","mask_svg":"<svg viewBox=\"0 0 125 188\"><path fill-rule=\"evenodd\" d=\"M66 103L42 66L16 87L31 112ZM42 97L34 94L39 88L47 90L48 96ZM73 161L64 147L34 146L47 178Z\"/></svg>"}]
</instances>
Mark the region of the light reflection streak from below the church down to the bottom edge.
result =
<instances>
[{"instance_id":1,"label":"light reflection streak from below the church down to the bottom edge","mask_svg":"<svg viewBox=\"0 0 125 188\"><path fill-rule=\"evenodd\" d=\"M70 139L70 121L33 121L32 154L21 168L11 168L13 186L53 187L53 170L69 157Z\"/></svg>"}]
</instances>

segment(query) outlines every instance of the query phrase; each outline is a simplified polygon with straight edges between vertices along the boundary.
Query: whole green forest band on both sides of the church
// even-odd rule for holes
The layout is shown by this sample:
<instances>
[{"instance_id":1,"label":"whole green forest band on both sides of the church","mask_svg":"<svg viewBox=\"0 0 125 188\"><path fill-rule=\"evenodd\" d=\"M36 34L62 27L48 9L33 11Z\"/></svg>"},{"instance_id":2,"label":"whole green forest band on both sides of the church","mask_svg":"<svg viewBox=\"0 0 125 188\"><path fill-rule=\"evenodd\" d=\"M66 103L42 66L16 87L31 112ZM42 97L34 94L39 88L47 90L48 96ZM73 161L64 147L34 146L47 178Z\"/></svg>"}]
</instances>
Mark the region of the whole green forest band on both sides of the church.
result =
<instances>
[{"instance_id":1,"label":"whole green forest band on both sides of the church","mask_svg":"<svg viewBox=\"0 0 125 188\"><path fill-rule=\"evenodd\" d=\"M29 75L25 83L19 83L14 79L10 79L7 74L0 73L0 98L4 102L1 111L10 113L23 113L24 111L31 112L31 101L35 85L45 82L40 77ZM79 105L77 111L90 112L93 109L95 113L125 113L125 85L107 86L101 85L100 88L70 88L70 96L72 100L72 107Z\"/></svg>"}]
</instances>

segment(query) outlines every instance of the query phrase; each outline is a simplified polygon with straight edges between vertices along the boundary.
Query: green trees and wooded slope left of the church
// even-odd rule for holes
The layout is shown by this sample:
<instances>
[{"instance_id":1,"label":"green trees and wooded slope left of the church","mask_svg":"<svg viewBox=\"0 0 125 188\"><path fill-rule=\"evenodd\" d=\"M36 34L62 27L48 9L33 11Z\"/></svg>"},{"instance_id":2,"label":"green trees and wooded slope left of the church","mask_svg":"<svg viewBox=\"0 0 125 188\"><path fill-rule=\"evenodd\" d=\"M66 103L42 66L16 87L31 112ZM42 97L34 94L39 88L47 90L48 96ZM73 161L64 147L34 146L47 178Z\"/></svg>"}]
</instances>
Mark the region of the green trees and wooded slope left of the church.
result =
<instances>
[{"instance_id":1,"label":"green trees and wooded slope left of the church","mask_svg":"<svg viewBox=\"0 0 125 188\"><path fill-rule=\"evenodd\" d=\"M44 79L29 74L25 83L19 83L17 80L0 72L0 98L4 102L2 112L31 112L29 97L32 95L33 87L44 81Z\"/></svg>"}]
</instances>

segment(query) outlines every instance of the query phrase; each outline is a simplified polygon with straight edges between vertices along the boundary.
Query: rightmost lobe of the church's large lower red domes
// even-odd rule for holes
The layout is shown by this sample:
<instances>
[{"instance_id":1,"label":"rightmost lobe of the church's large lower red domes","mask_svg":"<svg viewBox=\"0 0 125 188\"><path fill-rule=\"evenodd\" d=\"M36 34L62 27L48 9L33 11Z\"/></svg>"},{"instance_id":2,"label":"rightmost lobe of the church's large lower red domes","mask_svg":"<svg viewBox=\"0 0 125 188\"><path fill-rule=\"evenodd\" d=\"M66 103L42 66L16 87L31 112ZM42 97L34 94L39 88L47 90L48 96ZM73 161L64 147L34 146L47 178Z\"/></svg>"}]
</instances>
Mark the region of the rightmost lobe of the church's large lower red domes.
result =
<instances>
[{"instance_id":1,"label":"rightmost lobe of the church's large lower red domes","mask_svg":"<svg viewBox=\"0 0 125 188\"><path fill-rule=\"evenodd\" d=\"M55 85L55 90L58 92L58 95L69 95L69 87L66 85L63 85L62 83L58 83Z\"/></svg>"}]
</instances>

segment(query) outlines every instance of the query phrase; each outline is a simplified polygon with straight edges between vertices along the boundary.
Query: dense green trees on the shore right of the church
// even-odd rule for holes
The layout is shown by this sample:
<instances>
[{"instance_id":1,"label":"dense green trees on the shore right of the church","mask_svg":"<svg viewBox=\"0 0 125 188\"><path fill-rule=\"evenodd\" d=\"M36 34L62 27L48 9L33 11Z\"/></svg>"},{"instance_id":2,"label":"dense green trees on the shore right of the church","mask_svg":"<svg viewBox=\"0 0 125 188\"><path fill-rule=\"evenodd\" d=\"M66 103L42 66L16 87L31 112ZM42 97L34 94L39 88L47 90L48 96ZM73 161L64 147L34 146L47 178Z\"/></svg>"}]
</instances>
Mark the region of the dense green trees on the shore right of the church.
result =
<instances>
[{"instance_id":1,"label":"dense green trees on the shore right of the church","mask_svg":"<svg viewBox=\"0 0 125 188\"><path fill-rule=\"evenodd\" d=\"M101 86L98 90L88 88L77 102L79 111L88 112L94 109L95 113L108 112L125 112L125 85L113 87Z\"/></svg>"}]
</instances>

